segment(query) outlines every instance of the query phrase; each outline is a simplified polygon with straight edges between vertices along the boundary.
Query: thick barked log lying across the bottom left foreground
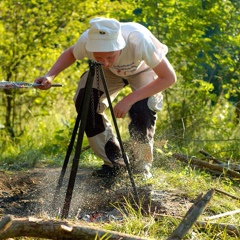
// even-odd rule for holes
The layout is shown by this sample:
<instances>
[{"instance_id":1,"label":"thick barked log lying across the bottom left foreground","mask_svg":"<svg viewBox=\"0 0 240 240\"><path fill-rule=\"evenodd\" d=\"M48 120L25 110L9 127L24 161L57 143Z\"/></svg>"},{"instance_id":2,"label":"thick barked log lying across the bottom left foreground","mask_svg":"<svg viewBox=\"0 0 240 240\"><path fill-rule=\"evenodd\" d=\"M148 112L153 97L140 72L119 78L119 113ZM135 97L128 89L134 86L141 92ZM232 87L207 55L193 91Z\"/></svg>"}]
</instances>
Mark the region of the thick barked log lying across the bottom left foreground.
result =
<instances>
[{"instance_id":1,"label":"thick barked log lying across the bottom left foreground","mask_svg":"<svg viewBox=\"0 0 240 240\"><path fill-rule=\"evenodd\" d=\"M1 220L0 226L4 222L9 223L9 217ZM141 238L120 232L102 230L95 227L85 225L73 225L67 221L43 220L36 218L19 218L10 220L8 228L0 229L0 239L8 239L14 237L36 237L47 239L98 239L108 237L113 240L147 240L149 238Z\"/></svg>"}]
</instances>

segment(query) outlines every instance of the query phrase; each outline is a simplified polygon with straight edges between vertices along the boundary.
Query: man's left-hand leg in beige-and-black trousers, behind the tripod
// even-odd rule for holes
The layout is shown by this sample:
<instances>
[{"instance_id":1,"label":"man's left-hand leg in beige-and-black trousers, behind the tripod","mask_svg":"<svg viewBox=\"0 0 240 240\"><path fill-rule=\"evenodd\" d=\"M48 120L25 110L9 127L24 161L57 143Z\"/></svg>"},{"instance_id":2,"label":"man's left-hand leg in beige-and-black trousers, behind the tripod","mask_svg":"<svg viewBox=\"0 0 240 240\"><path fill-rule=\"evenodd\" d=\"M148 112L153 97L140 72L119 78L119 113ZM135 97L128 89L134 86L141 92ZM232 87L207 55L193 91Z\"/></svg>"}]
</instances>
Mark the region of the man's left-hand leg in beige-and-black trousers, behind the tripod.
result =
<instances>
[{"instance_id":1,"label":"man's left-hand leg in beige-and-black trousers, behind the tripod","mask_svg":"<svg viewBox=\"0 0 240 240\"><path fill-rule=\"evenodd\" d=\"M123 80L109 71L104 71L106 82L108 85L109 95L111 100L117 96L118 92L125 86ZM74 97L77 111L83 99L84 87L86 84L88 73L85 73L79 82L77 93ZM109 81L107 79L110 79ZM119 147L118 140L112 131L112 126L108 121L104 110L108 107L102 80L99 74L95 74L93 80L93 88L90 97L90 106L87 113L86 135L88 137L89 145L94 153L103 159L104 165L102 172L105 170L112 170L115 163L124 165L122 154ZM101 169L99 170L101 174Z\"/></svg>"}]
</instances>

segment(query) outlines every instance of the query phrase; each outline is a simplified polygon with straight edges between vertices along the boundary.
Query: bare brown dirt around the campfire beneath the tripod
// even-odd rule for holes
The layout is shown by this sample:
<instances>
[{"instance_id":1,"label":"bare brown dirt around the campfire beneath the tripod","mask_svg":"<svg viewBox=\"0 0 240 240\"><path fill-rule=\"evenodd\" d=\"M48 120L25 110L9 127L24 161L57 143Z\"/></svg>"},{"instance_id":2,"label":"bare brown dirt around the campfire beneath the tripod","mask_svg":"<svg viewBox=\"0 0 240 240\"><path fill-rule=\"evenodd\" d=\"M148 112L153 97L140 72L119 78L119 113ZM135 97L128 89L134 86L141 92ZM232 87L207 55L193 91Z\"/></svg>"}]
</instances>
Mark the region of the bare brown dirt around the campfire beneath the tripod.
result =
<instances>
[{"instance_id":1,"label":"bare brown dirt around the campfire beneath the tripod","mask_svg":"<svg viewBox=\"0 0 240 240\"><path fill-rule=\"evenodd\" d=\"M128 175L119 179L106 179L91 176L91 169L80 169L77 173L68 217L85 219L101 212L112 212L115 206L134 203L134 191ZM53 202L60 168L35 168L28 171L0 171L0 218L14 217L56 217L61 214L66 198L69 173ZM136 187L138 197L146 212L180 216L191 205L184 193L161 191L150 185Z\"/></svg>"}]
</instances>

